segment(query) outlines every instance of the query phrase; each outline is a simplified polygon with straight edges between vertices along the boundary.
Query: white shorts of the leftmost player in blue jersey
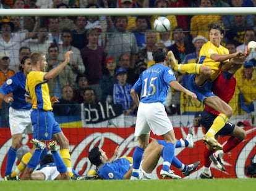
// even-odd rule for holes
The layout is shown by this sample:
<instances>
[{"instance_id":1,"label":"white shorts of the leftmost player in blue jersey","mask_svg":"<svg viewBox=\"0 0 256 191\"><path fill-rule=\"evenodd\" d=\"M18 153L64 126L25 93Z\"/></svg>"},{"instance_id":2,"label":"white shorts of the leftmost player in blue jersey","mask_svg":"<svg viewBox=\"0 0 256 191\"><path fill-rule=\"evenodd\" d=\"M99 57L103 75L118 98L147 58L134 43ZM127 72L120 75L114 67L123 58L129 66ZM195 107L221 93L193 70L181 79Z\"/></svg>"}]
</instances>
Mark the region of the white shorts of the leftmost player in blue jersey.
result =
<instances>
[{"instance_id":1,"label":"white shorts of the leftmost player in blue jersey","mask_svg":"<svg viewBox=\"0 0 256 191\"><path fill-rule=\"evenodd\" d=\"M33 126L30 119L31 110L16 110L9 108L9 124L11 134L33 133Z\"/></svg>"}]
</instances>

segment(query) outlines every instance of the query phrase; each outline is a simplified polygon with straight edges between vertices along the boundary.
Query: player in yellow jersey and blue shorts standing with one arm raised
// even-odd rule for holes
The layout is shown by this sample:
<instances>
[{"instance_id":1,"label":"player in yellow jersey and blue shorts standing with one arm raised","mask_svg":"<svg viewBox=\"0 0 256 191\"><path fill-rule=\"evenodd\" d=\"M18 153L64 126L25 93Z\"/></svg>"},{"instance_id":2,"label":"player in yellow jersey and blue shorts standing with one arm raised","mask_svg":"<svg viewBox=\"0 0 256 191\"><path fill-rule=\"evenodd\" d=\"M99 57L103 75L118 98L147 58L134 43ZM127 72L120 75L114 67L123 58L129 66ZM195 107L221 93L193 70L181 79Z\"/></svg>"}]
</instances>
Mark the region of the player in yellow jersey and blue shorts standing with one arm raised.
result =
<instances>
[{"instance_id":1,"label":"player in yellow jersey and blue shorts standing with one arm raised","mask_svg":"<svg viewBox=\"0 0 256 191\"><path fill-rule=\"evenodd\" d=\"M45 148L45 141L56 140L60 145L59 153L67 166L69 176L72 177L71 160L69 153L69 140L61 130L59 124L55 121L52 105L58 102L57 97L50 97L48 81L59 75L67 63L72 51L67 51L64 62L60 63L48 73L45 72L48 63L45 54L42 52L33 52L30 55L32 71L27 75L26 81L26 101L32 104L31 121L34 127L32 144L37 148L28 162L23 173L22 179L30 179L31 172L38 165L41 152Z\"/></svg>"}]
</instances>

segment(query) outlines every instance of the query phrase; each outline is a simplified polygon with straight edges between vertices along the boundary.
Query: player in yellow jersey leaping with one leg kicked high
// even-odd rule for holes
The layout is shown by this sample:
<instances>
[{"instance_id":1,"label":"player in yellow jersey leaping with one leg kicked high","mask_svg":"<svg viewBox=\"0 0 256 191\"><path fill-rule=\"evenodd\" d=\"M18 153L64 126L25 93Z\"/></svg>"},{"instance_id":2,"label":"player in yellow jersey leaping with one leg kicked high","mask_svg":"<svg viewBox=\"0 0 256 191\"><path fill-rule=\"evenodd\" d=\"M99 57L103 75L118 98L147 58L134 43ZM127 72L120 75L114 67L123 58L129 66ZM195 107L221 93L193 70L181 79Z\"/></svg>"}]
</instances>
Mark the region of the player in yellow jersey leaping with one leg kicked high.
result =
<instances>
[{"instance_id":1,"label":"player in yellow jersey leaping with one leg kicked high","mask_svg":"<svg viewBox=\"0 0 256 191\"><path fill-rule=\"evenodd\" d=\"M231 118L233 110L220 97L211 92L212 83L220 75L221 70L227 71L231 67L236 67L245 62L246 56L242 51L229 54L228 49L221 46L224 36L224 26L220 22L213 22L209 26L210 41L205 43L200 51L198 63L177 64L173 60L172 52L168 52L168 59L174 71L181 73L192 73L189 76L189 89L197 94L197 99L220 112L211 125L211 128L203 136L203 142L217 150L222 146L215 139L215 134L223 128L224 124ZM229 91L228 89L226 91ZM225 92L223 92L224 94Z\"/></svg>"}]
</instances>

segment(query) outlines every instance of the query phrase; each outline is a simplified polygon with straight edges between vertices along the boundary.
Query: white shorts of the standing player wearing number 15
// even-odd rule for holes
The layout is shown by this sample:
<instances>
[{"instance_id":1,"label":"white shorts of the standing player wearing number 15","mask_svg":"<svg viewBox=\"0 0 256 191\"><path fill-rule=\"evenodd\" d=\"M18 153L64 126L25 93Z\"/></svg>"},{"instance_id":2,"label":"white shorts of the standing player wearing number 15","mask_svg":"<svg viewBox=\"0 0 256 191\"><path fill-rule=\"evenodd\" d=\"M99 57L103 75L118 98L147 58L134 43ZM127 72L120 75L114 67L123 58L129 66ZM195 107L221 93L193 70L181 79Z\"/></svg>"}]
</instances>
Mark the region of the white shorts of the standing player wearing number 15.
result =
<instances>
[{"instance_id":1,"label":"white shorts of the standing player wearing number 15","mask_svg":"<svg viewBox=\"0 0 256 191\"><path fill-rule=\"evenodd\" d=\"M134 136L142 134L153 134L161 136L173 129L173 124L169 120L164 105L160 102L145 104L140 102L135 124Z\"/></svg>"}]
</instances>

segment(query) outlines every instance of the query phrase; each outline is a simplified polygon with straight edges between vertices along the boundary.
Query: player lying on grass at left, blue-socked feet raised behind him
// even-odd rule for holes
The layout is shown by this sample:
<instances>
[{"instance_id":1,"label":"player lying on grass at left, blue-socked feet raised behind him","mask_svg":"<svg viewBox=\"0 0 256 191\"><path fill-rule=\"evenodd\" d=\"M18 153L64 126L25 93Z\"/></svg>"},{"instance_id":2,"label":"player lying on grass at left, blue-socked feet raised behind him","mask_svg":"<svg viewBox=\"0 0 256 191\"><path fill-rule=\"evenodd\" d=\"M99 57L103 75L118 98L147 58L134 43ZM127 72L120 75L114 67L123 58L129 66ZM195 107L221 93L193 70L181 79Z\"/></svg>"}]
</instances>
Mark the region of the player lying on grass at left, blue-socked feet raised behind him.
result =
<instances>
[{"instance_id":1,"label":"player lying on grass at left, blue-socked feet raised behind him","mask_svg":"<svg viewBox=\"0 0 256 191\"><path fill-rule=\"evenodd\" d=\"M31 142L35 146L35 153L31 160L36 160L38 163L40 152L46 147L46 145L36 139L32 139ZM48 154L43 157L40 168L35 171L29 171L30 177L28 179L37 181L70 180L67 167L58 153L56 141L49 142L48 147L52 154Z\"/></svg>"}]
</instances>

